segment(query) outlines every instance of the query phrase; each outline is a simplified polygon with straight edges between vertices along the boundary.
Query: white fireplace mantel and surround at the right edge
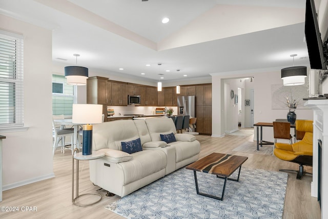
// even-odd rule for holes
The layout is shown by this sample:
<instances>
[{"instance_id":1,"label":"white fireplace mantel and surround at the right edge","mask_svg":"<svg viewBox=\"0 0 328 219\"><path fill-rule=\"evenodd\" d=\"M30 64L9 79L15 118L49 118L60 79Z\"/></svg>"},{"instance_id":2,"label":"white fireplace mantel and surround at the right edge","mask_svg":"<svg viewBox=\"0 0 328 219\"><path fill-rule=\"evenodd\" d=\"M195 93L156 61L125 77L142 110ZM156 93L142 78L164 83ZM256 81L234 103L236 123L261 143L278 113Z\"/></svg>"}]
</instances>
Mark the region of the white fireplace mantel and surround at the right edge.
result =
<instances>
[{"instance_id":1,"label":"white fireplace mantel and surround at the right edge","mask_svg":"<svg viewBox=\"0 0 328 219\"><path fill-rule=\"evenodd\" d=\"M328 185L328 99L309 99L304 104L313 110L313 177L311 195L318 197L318 140L322 141L321 185ZM322 186L321 218L328 218L328 188Z\"/></svg>"}]
</instances>

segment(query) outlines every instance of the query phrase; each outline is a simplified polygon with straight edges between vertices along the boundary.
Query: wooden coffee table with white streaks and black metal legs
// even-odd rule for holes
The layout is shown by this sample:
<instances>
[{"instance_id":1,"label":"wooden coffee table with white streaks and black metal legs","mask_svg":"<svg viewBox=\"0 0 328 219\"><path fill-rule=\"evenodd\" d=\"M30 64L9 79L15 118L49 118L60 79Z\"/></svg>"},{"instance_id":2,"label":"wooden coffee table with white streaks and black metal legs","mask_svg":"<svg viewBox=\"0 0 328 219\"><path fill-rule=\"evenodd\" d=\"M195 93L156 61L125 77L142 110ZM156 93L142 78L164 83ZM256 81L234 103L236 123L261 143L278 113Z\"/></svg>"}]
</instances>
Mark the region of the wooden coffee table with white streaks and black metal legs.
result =
<instances>
[{"instance_id":1,"label":"wooden coffee table with white streaks and black metal legs","mask_svg":"<svg viewBox=\"0 0 328 219\"><path fill-rule=\"evenodd\" d=\"M206 157L201 158L200 160L192 163L186 167L188 170L194 171L196 191L197 194L216 198L218 200L223 200L224 190L226 189L227 180L239 182L239 175L241 170L241 165L248 159L247 156L237 156L231 154L222 154L222 153L212 153ZM238 177L228 178L232 173L234 173L239 168ZM224 178L224 185L222 190L221 197L213 196L210 194L205 194L199 192L197 174L196 172L204 172L214 174L219 178Z\"/></svg>"}]
</instances>

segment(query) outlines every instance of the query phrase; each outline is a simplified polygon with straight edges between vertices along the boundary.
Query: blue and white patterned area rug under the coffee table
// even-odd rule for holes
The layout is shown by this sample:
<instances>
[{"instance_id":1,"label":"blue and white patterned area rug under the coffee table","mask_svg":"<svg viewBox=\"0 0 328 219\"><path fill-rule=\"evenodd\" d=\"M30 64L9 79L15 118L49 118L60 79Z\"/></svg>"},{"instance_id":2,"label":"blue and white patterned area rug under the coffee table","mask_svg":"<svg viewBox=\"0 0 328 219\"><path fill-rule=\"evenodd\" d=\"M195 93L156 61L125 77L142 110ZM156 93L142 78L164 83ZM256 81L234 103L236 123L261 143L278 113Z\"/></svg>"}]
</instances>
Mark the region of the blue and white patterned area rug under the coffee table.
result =
<instances>
[{"instance_id":1,"label":"blue and white patterned area rug under the coffee table","mask_svg":"<svg viewBox=\"0 0 328 219\"><path fill-rule=\"evenodd\" d=\"M199 192L221 196L223 179L197 172L197 180ZM126 218L282 218L287 180L287 173L242 167L219 201L198 195L193 171L182 168L105 208Z\"/></svg>"}]
</instances>

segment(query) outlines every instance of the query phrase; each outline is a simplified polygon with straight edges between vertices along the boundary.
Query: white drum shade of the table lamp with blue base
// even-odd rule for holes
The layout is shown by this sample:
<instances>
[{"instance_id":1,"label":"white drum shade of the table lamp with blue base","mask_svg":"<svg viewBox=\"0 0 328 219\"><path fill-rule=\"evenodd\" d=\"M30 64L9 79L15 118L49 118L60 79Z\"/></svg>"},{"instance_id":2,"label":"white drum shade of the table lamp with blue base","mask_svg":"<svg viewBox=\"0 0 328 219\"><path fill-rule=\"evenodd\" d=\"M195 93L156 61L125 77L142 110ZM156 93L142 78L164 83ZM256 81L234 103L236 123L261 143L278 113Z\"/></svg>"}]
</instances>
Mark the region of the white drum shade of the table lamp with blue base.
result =
<instances>
[{"instance_id":1,"label":"white drum shade of the table lamp with blue base","mask_svg":"<svg viewBox=\"0 0 328 219\"><path fill-rule=\"evenodd\" d=\"M77 124L97 124L103 122L103 105L73 104L72 122Z\"/></svg>"}]
</instances>

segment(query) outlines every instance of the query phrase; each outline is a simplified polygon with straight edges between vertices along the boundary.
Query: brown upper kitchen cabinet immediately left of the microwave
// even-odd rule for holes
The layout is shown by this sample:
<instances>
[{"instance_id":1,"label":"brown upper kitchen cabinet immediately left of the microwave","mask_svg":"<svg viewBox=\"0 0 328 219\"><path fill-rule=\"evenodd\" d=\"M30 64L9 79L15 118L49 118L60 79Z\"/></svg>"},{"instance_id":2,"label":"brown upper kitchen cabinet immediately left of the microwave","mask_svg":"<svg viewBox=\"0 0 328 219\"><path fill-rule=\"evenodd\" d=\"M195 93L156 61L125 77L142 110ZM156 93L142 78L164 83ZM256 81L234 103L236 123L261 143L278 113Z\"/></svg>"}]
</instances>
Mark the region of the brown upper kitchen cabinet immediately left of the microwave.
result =
<instances>
[{"instance_id":1,"label":"brown upper kitchen cabinet immediately left of the microwave","mask_svg":"<svg viewBox=\"0 0 328 219\"><path fill-rule=\"evenodd\" d=\"M111 102L112 106L127 106L128 105L128 84L124 82L112 83Z\"/></svg>"}]
</instances>

